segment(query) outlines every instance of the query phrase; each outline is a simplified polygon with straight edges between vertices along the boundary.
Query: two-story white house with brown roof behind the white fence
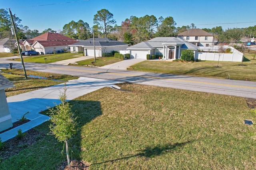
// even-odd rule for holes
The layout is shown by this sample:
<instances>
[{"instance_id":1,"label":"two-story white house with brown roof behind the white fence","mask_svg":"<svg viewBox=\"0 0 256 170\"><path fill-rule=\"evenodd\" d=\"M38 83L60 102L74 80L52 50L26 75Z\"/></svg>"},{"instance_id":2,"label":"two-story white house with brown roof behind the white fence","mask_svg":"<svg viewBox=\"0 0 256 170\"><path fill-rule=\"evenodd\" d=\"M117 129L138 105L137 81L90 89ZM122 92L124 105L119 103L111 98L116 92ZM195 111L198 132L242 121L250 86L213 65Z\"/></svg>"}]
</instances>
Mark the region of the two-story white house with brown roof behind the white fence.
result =
<instances>
[{"instance_id":1,"label":"two-story white house with brown roof behind the white fence","mask_svg":"<svg viewBox=\"0 0 256 170\"><path fill-rule=\"evenodd\" d=\"M198 47L209 47L214 45L213 35L201 30L201 29L190 29L178 34L178 38L184 41L193 43Z\"/></svg>"}]
</instances>

